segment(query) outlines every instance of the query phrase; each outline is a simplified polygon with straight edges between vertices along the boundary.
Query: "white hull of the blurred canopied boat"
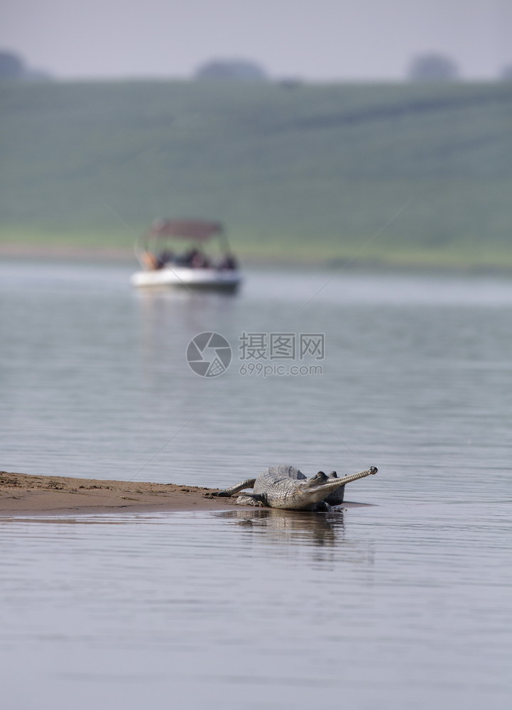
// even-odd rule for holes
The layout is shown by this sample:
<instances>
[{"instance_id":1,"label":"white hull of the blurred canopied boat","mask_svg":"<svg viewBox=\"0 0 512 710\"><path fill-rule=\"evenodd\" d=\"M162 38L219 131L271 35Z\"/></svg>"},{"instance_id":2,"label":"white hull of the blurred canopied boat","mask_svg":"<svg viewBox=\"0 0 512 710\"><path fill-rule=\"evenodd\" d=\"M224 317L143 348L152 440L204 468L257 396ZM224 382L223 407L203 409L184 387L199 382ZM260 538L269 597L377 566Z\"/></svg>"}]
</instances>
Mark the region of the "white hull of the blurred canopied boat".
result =
<instances>
[{"instance_id":1,"label":"white hull of the blurred canopied boat","mask_svg":"<svg viewBox=\"0 0 512 710\"><path fill-rule=\"evenodd\" d=\"M234 291L241 283L238 271L219 271L214 268L187 268L186 266L165 266L156 271L136 271L130 278L137 288L172 286L219 291Z\"/></svg>"}]
</instances>

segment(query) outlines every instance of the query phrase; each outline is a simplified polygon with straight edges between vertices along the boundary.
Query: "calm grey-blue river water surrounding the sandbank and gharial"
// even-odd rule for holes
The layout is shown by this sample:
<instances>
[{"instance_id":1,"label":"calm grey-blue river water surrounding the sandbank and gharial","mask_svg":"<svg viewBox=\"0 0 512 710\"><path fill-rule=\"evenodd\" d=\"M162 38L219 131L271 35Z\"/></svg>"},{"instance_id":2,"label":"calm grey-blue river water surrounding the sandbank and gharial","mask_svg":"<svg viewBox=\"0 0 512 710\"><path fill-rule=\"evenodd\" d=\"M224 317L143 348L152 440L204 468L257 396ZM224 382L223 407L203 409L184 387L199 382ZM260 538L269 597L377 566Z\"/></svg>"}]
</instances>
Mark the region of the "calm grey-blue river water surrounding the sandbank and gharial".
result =
<instances>
[{"instance_id":1,"label":"calm grey-blue river water surrounding the sandbank and gharial","mask_svg":"<svg viewBox=\"0 0 512 710\"><path fill-rule=\"evenodd\" d=\"M1 469L379 473L344 513L4 519L6 707L508 709L512 282L253 271L229 297L130 272L0 266ZM187 364L204 332L218 376Z\"/></svg>"}]
</instances>

